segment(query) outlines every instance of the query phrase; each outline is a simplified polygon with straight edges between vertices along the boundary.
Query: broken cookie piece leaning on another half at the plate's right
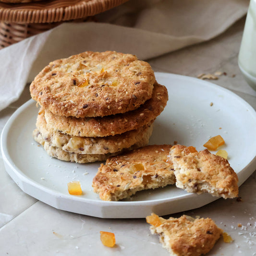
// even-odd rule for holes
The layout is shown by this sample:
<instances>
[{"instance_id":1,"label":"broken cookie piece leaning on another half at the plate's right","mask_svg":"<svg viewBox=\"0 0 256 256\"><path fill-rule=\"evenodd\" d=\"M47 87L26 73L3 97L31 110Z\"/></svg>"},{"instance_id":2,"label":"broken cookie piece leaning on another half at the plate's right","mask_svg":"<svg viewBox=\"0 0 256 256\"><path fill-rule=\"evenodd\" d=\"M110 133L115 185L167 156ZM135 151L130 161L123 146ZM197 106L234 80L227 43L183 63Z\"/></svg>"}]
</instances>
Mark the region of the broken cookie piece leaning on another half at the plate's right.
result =
<instances>
[{"instance_id":1,"label":"broken cookie piece leaning on another half at the plate's right","mask_svg":"<svg viewBox=\"0 0 256 256\"><path fill-rule=\"evenodd\" d=\"M238 177L227 159L211 154L207 149L199 152L188 149L175 145L170 150L177 187L223 198L238 196Z\"/></svg>"}]
</instances>

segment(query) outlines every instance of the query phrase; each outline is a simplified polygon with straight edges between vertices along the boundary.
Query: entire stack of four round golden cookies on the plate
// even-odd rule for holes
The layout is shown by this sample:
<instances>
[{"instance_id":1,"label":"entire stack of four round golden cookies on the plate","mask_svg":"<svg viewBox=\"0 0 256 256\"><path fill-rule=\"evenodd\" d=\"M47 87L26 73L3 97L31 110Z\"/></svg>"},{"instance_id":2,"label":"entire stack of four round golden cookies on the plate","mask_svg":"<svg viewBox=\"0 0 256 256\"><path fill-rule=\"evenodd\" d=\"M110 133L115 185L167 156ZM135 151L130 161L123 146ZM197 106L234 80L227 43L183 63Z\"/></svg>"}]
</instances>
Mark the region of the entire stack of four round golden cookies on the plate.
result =
<instances>
[{"instance_id":1,"label":"entire stack of four round golden cookies on the plate","mask_svg":"<svg viewBox=\"0 0 256 256\"><path fill-rule=\"evenodd\" d=\"M41 106L34 139L50 156L78 163L147 145L168 100L147 62L114 51L53 61L30 92Z\"/></svg>"}]
</instances>

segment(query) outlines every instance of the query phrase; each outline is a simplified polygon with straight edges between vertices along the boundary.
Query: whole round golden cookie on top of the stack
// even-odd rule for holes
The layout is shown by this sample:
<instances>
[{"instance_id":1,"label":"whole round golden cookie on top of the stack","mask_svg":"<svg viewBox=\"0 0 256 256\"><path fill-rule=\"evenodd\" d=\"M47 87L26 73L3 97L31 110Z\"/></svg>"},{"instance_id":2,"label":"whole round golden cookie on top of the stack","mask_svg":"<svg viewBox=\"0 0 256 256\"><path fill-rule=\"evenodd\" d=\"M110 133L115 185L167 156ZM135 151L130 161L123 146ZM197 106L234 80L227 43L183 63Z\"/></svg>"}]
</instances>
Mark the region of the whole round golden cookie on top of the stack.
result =
<instances>
[{"instance_id":1,"label":"whole round golden cookie on top of the stack","mask_svg":"<svg viewBox=\"0 0 256 256\"><path fill-rule=\"evenodd\" d=\"M134 55L86 51L50 62L30 93L54 114L95 117L138 108L151 98L154 83L150 65Z\"/></svg>"}]
</instances>

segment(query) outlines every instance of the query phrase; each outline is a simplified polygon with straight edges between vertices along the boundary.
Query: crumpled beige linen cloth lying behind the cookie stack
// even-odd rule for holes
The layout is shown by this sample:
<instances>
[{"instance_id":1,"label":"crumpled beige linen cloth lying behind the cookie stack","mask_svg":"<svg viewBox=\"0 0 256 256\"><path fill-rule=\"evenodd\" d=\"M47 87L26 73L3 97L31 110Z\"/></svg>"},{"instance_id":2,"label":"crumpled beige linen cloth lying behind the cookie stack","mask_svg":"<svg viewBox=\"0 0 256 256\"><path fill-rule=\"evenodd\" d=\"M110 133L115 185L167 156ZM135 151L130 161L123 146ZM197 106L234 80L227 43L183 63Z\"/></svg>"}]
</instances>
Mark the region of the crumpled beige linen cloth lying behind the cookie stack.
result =
<instances>
[{"instance_id":1,"label":"crumpled beige linen cloth lying behind the cookie stack","mask_svg":"<svg viewBox=\"0 0 256 256\"><path fill-rule=\"evenodd\" d=\"M0 110L50 61L86 50L115 50L146 60L209 40L243 17L249 0L129 0L0 50Z\"/></svg>"}]
</instances>

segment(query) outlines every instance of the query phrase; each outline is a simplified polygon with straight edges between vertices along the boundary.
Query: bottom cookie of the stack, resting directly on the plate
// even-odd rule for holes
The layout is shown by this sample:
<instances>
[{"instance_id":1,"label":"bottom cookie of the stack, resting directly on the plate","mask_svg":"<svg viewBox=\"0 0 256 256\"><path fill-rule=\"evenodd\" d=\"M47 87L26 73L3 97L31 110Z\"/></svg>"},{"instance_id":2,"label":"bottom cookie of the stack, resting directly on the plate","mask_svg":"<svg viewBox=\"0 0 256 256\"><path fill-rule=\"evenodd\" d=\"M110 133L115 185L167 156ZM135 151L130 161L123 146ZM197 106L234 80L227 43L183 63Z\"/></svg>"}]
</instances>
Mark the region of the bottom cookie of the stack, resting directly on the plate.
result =
<instances>
[{"instance_id":1,"label":"bottom cookie of the stack, resting directly on the plate","mask_svg":"<svg viewBox=\"0 0 256 256\"><path fill-rule=\"evenodd\" d=\"M44 147L47 154L53 158L58 158L63 161L71 161L76 163L91 163L91 162L97 162L97 161L105 161L107 158L111 156L115 156L118 154L121 154L122 151L126 150L123 149L120 152L114 152L114 153L108 153L108 154L78 154L78 153L70 153L62 150L59 147L52 146L50 143L42 137L42 134L35 129L33 132L34 140L39 143L41 146ZM148 141L145 141L144 139L138 141L136 144L128 148L127 150L132 150L137 147L145 146L147 145Z\"/></svg>"}]
</instances>

